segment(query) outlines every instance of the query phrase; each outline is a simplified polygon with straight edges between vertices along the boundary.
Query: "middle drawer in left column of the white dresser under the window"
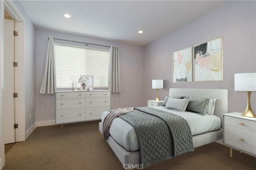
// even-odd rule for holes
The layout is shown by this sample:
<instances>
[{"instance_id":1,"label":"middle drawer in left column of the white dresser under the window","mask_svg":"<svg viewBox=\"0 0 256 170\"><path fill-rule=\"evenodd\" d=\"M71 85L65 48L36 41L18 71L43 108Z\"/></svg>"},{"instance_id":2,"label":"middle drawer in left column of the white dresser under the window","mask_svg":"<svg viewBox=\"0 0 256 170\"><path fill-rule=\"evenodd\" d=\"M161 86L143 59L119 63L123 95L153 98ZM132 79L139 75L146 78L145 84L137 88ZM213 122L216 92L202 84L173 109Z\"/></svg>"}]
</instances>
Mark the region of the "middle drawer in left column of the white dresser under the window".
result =
<instances>
[{"instance_id":1,"label":"middle drawer in left column of the white dresser under the window","mask_svg":"<svg viewBox=\"0 0 256 170\"><path fill-rule=\"evenodd\" d=\"M85 107L85 98L56 100L56 109L72 109L83 107Z\"/></svg>"}]
</instances>

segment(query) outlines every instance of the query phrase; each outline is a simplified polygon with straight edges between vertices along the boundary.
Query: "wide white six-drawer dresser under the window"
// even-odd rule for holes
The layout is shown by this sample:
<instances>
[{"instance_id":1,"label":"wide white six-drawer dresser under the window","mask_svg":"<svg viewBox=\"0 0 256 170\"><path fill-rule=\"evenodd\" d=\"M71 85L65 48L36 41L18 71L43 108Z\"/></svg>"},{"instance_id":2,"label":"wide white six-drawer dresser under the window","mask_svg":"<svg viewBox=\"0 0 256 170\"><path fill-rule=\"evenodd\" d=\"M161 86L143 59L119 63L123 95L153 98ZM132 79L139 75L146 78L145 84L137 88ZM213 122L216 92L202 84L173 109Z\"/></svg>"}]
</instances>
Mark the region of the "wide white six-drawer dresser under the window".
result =
<instances>
[{"instance_id":1,"label":"wide white six-drawer dresser under the window","mask_svg":"<svg viewBox=\"0 0 256 170\"><path fill-rule=\"evenodd\" d=\"M110 91L56 92L56 124L101 119L110 110Z\"/></svg>"}]
</instances>

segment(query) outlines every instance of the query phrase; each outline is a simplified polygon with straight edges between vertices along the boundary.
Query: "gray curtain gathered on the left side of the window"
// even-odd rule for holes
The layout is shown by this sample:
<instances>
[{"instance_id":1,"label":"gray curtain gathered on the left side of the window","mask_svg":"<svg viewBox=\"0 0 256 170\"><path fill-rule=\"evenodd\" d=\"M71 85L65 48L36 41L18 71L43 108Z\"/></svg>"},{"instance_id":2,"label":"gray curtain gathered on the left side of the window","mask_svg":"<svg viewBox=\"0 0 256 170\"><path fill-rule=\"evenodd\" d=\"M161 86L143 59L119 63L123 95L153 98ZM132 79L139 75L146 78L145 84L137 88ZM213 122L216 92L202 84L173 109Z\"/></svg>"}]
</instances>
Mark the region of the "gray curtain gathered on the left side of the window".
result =
<instances>
[{"instance_id":1,"label":"gray curtain gathered on the left side of the window","mask_svg":"<svg viewBox=\"0 0 256 170\"><path fill-rule=\"evenodd\" d=\"M49 37L46 61L44 67L44 76L42 78L40 94L56 93L56 71L53 37Z\"/></svg>"}]
</instances>

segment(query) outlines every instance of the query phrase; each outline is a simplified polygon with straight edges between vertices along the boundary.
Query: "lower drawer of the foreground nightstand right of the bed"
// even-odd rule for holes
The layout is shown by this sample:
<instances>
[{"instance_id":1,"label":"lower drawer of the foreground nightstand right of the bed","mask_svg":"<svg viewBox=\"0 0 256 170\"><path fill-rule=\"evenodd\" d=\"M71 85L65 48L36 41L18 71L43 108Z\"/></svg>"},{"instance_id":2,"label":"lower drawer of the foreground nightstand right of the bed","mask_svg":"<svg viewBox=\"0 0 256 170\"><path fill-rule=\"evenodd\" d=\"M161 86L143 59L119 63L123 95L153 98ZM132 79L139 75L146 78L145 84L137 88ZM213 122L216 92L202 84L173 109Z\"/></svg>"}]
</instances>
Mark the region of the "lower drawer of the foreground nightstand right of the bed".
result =
<instances>
[{"instance_id":1,"label":"lower drawer of the foreground nightstand right of the bed","mask_svg":"<svg viewBox=\"0 0 256 170\"><path fill-rule=\"evenodd\" d=\"M253 131L224 125L224 143L256 154L256 133Z\"/></svg>"}]
</instances>

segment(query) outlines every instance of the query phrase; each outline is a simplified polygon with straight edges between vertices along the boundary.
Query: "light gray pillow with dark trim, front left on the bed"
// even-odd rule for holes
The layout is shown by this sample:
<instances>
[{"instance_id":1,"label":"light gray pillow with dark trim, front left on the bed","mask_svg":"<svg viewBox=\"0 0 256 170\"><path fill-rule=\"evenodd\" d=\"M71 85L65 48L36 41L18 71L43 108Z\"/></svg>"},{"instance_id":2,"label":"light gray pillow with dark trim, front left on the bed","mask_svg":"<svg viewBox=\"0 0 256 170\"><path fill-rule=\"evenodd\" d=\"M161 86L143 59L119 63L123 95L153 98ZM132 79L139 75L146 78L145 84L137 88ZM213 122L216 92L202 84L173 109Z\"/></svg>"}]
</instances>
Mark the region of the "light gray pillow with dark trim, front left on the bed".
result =
<instances>
[{"instance_id":1,"label":"light gray pillow with dark trim, front left on the bed","mask_svg":"<svg viewBox=\"0 0 256 170\"><path fill-rule=\"evenodd\" d=\"M188 106L189 100L190 100L189 98L188 99L176 99L176 98L169 97L166 102L165 107L170 108L170 109L185 111Z\"/></svg>"}]
</instances>

